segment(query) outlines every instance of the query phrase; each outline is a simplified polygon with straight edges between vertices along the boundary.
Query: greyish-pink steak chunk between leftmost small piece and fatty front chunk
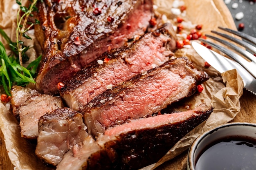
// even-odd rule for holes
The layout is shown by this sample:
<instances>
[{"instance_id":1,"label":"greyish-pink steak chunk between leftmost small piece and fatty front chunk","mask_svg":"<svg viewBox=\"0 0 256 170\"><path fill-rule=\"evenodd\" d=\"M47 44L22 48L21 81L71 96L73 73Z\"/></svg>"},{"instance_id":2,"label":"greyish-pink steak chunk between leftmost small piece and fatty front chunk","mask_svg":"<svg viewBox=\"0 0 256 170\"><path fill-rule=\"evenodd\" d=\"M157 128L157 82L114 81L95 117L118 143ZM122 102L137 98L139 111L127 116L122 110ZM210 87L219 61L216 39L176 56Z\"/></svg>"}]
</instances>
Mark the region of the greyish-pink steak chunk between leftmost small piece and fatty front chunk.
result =
<instances>
[{"instance_id":1,"label":"greyish-pink steak chunk between leftmost small piece and fatty front chunk","mask_svg":"<svg viewBox=\"0 0 256 170\"><path fill-rule=\"evenodd\" d=\"M38 136L39 118L47 112L63 107L64 104L60 97L42 94L29 97L26 102L17 109L20 115L21 136L36 139Z\"/></svg>"}]
</instances>

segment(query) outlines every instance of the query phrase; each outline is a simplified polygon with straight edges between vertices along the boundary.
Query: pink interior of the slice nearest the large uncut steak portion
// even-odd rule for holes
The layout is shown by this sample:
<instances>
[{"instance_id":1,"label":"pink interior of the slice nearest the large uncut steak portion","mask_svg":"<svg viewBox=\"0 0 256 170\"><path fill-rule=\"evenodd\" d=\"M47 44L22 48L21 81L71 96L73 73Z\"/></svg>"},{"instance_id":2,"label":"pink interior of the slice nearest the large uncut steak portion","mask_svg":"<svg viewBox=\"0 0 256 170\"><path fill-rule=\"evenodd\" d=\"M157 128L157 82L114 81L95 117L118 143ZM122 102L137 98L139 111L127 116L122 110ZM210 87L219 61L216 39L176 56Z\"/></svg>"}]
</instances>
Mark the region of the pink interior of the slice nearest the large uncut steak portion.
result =
<instances>
[{"instance_id":1,"label":"pink interior of the slice nearest the large uncut steak portion","mask_svg":"<svg viewBox=\"0 0 256 170\"><path fill-rule=\"evenodd\" d=\"M75 90L75 98L83 106L90 102L94 97L106 91L109 84L115 85L134 77L135 75L159 66L166 62L169 57L164 55L165 47L160 38L150 38L143 41L136 49L136 53L130 56L124 56L113 63L109 63L102 71L97 73L96 77L90 77L88 83L83 84ZM155 52L155 53L153 53ZM125 54L124 54L125 55ZM84 89L81 91L80 89Z\"/></svg>"}]
</instances>

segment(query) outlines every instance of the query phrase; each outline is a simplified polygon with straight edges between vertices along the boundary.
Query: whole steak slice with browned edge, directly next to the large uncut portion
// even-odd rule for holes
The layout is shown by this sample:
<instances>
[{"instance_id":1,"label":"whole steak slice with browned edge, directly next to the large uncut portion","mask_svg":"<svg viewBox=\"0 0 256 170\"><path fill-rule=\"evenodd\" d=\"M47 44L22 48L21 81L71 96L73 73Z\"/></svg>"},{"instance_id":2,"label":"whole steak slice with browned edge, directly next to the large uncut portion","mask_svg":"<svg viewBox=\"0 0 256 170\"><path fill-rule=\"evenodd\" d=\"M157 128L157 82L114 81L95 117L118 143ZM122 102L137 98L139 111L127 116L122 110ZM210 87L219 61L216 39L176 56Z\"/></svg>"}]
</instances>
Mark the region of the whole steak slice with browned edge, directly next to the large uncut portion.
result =
<instances>
[{"instance_id":1,"label":"whole steak slice with browned edge, directly next to the large uncut portion","mask_svg":"<svg viewBox=\"0 0 256 170\"><path fill-rule=\"evenodd\" d=\"M169 60L175 44L171 24L146 33L129 48L104 53L98 61L91 62L74 77L67 79L63 82L61 96L67 106L79 110L79 107L106 91L108 86L111 88Z\"/></svg>"}]
</instances>

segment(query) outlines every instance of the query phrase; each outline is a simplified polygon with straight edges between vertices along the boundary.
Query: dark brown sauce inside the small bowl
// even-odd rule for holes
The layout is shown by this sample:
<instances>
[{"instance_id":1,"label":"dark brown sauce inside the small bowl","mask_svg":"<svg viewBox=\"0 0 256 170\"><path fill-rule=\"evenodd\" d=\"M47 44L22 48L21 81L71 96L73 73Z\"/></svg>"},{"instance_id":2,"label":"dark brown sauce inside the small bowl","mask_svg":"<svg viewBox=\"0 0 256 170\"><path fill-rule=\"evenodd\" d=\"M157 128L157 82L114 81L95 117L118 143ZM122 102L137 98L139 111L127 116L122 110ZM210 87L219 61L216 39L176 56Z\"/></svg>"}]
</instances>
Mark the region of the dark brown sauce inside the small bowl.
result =
<instances>
[{"instance_id":1,"label":"dark brown sauce inside the small bowl","mask_svg":"<svg viewBox=\"0 0 256 170\"><path fill-rule=\"evenodd\" d=\"M256 139L231 136L204 148L195 170L256 170Z\"/></svg>"}]
</instances>

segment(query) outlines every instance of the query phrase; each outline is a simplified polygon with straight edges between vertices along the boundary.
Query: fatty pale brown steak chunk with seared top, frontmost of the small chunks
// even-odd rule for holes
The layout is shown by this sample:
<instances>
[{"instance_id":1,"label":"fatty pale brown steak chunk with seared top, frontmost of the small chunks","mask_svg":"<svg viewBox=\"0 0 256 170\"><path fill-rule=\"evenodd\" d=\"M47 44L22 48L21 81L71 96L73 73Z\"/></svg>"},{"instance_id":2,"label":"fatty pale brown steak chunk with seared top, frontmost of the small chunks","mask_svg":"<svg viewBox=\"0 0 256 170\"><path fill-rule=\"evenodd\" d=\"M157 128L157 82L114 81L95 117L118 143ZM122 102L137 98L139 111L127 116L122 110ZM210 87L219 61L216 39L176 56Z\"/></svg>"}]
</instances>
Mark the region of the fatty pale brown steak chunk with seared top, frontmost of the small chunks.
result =
<instances>
[{"instance_id":1,"label":"fatty pale brown steak chunk with seared top, frontmost of the small chunks","mask_svg":"<svg viewBox=\"0 0 256 170\"><path fill-rule=\"evenodd\" d=\"M57 166L65 152L88 137L85 130L83 115L70 108L43 115L38 123L36 155Z\"/></svg>"}]
</instances>

